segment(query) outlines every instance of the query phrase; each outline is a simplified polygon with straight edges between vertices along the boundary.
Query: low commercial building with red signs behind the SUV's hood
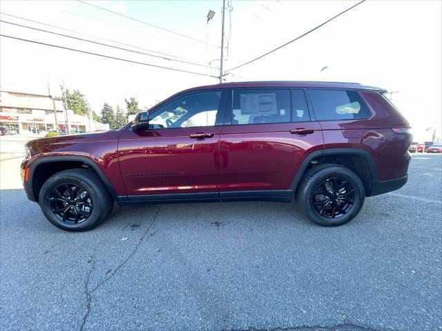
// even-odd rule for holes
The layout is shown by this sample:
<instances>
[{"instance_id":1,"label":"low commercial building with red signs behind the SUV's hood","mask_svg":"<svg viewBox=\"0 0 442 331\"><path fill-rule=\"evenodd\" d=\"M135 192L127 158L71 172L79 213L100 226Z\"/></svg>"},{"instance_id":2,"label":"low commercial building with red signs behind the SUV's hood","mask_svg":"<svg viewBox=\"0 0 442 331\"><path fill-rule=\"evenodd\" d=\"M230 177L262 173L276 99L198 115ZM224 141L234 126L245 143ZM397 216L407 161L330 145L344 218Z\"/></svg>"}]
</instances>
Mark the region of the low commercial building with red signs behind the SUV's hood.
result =
<instances>
[{"instance_id":1,"label":"low commercial building with red signs behind the SUV's hood","mask_svg":"<svg viewBox=\"0 0 442 331\"><path fill-rule=\"evenodd\" d=\"M0 91L0 126L19 133L44 133L52 130L71 133L109 130L108 124L64 111L60 100L49 95Z\"/></svg>"}]
</instances>

